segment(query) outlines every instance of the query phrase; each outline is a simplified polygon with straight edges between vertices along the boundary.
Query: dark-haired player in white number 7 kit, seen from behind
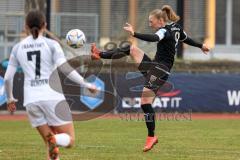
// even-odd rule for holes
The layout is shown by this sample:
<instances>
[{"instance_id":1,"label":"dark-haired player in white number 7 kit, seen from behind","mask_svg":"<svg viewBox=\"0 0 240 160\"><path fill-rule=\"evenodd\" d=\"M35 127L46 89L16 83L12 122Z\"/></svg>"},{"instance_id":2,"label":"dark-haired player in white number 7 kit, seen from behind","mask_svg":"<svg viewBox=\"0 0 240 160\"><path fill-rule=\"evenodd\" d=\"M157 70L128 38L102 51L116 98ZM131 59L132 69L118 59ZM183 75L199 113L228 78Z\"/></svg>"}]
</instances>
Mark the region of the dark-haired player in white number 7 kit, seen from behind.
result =
<instances>
[{"instance_id":1,"label":"dark-haired player in white number 7 kit, seen from behind","mask_svg":"<svg viewBox=\"0 0 240 160\"><path fill-rule=\"evenodd\" d=\"M72 117L65 97L49 85L52 72L59 67L60 71L68 74L68 78L81 87L87 87L91 92L95 92L96 87L85 82L75 70L65 73L69 71L70 66L68 65L67 69L60 67L66 62L66 58L56 41L43 36L45 27L45 17L40 11L28 13L26 30L29 36L13 47L4 80L7 107L8 110L14 111L17 100L12 93L13 77L17 67L21 66L24 72L24 106L29 120L46 143L47 159L57 160L58 147L71 147L75 138ZM59 84L58 87L61 89L59 77L54 78L54 84ZM63 115L59 116L56 112L61 112L61 109Z\"/></svg>"}]
</instances>

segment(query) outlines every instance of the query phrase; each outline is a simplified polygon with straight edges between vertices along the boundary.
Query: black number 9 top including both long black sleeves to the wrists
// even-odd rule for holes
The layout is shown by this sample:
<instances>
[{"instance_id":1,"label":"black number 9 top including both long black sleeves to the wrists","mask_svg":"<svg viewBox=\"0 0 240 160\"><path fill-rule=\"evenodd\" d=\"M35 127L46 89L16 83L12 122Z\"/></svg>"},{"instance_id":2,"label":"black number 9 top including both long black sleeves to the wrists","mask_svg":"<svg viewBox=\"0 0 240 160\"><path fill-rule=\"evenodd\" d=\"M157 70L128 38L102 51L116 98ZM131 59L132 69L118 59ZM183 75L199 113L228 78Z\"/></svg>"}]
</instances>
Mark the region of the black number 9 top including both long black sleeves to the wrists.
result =
<instances>
[{"instance_id":1,"label":"black number 9 top including both long black sleeves to the wrists","mask_svg":"<svg viewBox=\"0 0 240 160\"><path fill-rule=\"evenodd\" d=\"M203 44L195 42L188 37L183 31L183 28L177 23L168 24L165 27L160 28L155 34L134 32L133 36L148 42L158 42L154 61L166 65L169 70L173 66L179 41L198 48L202 48L203 46Z\"/></svg>"}]
</instances>

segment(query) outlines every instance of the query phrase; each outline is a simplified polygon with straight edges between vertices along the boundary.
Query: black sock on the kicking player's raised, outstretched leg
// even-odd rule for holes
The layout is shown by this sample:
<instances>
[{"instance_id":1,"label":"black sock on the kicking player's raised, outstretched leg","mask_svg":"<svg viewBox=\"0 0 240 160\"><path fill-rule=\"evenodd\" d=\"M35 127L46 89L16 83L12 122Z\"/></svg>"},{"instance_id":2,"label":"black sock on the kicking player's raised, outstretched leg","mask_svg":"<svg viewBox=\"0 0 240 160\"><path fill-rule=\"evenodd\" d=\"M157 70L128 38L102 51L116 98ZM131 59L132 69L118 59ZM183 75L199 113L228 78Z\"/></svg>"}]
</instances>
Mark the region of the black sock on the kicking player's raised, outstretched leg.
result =
<instances>
[{"instance_id":1,"label":"black sock on the kicking player's raised, outstretched leg","mask_svg":"<svg viewBox=\"0 0 240 160\"><path fill-rule=\"evenodd\" d=\"M130 54L130 46L102 51L100 57L103 59L120 59Z\"/></svg>"}]
</instances>

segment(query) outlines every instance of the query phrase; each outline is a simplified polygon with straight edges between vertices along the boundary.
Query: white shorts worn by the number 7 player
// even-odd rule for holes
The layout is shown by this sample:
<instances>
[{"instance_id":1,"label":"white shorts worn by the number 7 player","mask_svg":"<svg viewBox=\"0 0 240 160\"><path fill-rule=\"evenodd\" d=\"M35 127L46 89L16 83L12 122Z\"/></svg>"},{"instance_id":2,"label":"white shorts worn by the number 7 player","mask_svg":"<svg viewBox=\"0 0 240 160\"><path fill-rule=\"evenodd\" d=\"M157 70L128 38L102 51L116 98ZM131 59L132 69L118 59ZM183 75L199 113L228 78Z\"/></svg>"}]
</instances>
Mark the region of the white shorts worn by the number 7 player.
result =
<instances>
[{"instance_id":1,"label":"white shorts worn by the number 7 player","mask_svg":"<svg viewBox=\"0 0 240 160\"><path fill-rule=\"evenodd\" d=\"M61 126L72 123L72 115L68 103L57 100L39 101L26 105L28 118L32 127L48 124Z\"/></svg>"}]
</instances>

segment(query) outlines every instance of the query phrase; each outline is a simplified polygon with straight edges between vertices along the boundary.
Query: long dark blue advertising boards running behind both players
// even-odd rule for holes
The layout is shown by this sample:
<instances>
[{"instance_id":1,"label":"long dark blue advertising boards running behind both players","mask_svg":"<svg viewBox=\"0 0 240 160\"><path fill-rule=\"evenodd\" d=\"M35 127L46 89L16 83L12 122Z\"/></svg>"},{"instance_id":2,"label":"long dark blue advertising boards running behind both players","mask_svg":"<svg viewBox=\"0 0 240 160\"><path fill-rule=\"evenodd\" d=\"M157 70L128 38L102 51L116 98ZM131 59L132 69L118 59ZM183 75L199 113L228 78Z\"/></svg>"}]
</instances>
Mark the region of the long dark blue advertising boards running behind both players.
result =
<instances>
[{"instance_id":1,"label":"long dark blue advertising boards running behind both players","mask_svg":"<svg viewBox=\"0 0 240 160\"><path fill-rule=\"evenodd\" d=\"M91 81L92 76L86 78ZM141 111L144 81L145 78L137 72L116 73L114 76L100 74L94 78L94 83L102 90L97 96L84 96L84 90L80 92L80 87L74 87L74 93L78 96L65 96L75 102L71 105L72 110L109 112L115 108L118 112ZM239 82L240 74L173 73L168 80L171 90L156 97L153 107L155 111L239 112ZM14 95L19 100L18 110L24 110L22 86L23 75L17 73ZM65 88L68 90L69 87ZM5 102L4 94L2 102ZM0 110L6 109L5 104Z\"/></svg>"}]
</instances>

